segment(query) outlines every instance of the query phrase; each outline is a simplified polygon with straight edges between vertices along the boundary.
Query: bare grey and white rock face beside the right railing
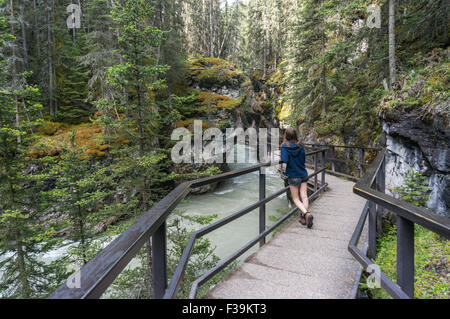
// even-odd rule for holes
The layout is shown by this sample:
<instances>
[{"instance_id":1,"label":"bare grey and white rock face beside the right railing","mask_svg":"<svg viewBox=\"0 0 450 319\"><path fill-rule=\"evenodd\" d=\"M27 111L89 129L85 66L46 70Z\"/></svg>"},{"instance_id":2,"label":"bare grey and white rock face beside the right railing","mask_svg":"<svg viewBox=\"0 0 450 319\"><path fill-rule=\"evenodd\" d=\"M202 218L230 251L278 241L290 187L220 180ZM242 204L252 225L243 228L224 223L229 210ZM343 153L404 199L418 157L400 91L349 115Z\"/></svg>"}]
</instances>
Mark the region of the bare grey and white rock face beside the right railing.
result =
<instances>
[{"instance_id":1,"label":"bare grey and white rock face beside the right railing","mask_svg":"<svg viewBox=\"0 0 450 319\"><path fill-rule=\"evenodd\" d=\"M446 106L448 109L448 105ZM450 217L450 127L436 115L424 120L415 112L392 110L382 115L387 134L386 186L392 193L411 169L427 177L432 192L427 207Z\"/></svg>"}]
</instances>

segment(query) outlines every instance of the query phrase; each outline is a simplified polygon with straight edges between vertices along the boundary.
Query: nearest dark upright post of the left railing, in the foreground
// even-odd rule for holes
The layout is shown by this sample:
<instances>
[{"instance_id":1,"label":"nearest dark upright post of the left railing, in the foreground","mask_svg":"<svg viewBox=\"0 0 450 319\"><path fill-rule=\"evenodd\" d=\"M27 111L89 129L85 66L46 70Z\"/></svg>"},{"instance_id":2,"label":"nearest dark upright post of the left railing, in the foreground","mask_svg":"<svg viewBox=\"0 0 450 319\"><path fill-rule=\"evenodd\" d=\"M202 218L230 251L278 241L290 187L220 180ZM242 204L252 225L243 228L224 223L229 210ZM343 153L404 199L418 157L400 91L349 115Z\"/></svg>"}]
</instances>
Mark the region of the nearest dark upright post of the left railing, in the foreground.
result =
<instances>
[{"instance_id":1,"label":"nearest dark upright post of the left railing, in the foreground","mask_svg":"<svg viewBox=\"0 0 450 319\"><path fill-rule=\"evenodd\" d=\"M167 234L166 222L152 236L153 294L162 299L167 288Z\"/></svg>"}]
</instances>

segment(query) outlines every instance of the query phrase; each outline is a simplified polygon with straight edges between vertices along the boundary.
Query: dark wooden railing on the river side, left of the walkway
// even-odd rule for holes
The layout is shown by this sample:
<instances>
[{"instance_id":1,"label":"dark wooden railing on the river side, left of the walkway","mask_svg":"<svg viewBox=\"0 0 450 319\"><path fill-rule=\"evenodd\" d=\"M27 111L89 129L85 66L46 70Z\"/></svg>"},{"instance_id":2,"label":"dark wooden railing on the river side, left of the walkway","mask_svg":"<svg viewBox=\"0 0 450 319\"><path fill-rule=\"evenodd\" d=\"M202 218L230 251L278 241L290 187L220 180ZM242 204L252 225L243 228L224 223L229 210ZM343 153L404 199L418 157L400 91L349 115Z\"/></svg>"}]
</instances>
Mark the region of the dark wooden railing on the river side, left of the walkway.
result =
<instances>
[{"instance_id":1,"label":"dark wooden railing on the river side, left of the walkway","mask_svg":"<svg viewBox=\"0 0 450 319\"><path fill-rule=\"evenodd\" d=\"M322 158L325 158L326 149L307 153L307 157L314 156L317 158L318 154L321 154ZM316 161L316 163L318 163ZM297 208L288 212L279 221L272 225L269 229L266 229L266 204L271 200L281 196L288 191L288 187L281 189L280 191L266 196L266 180L263 169L270 166L271 163L259 164L249 168L243 168L235 170L218 176L212 176L195 181L185 182L175 188L172 192L164 197L160 202L155 204L147 213L138 219L130 228L117 237L112 243L110 243L105 249L103 249L97 256L90 260L79 271L80 287L73 288L67 283L59 287L51 296L51 299L86 299L86 298L100 298L106 289L112 284L112 282L121 274L124 268L129 262L137 255L138 251L146 244L152 245L152 271L153 271L153 283L152 289L156 299L161 298L175 298L178 287L182 281L184 271L193 249L195 240L214 231L239 217L242 217L249 212L259 209L259 235L249 243L244 245L241 249L233 253L228 258L222 260L216 267L203 274L199 279L194 282L191 291L191 297L196 296L197 288L202 285L209 278L214 276L217 272L226 267L230 262L241 256L248 249L260 243L264 245L265 238L276 227L283 223L287 218L296 213ZM310 196L310 199L316 198L321 192L323 192L327 184L325 183L325 170L326 167L318 167L310 175L310 178L315 178L315 191ZM250 174L252 172L259 171L259 201L253 205L250 205L235 214L232 214L216 223L205 227L199 231L194 232L191 235L190 241L184 249L181 260L175 273L168 285L167 278L167 234L166 234L166 221L171 212L176 206L189 194L191 188L204 186L212 183L222 182L234 177ZM322 174L321 184L318 183L317 177Z\"/></svg>"}]
</instances>

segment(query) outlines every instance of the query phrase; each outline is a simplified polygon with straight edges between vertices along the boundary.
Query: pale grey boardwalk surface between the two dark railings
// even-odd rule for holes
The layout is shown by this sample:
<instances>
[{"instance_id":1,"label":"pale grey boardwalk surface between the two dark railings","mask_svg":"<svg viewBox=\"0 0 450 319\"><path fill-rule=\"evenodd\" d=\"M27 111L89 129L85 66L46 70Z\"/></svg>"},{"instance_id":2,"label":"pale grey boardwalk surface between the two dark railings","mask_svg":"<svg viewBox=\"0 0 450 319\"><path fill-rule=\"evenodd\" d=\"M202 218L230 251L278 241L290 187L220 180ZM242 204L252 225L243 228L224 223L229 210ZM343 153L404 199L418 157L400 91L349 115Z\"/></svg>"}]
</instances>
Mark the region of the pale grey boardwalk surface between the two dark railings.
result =
<instances>
[{"instance_id":1,"label":"pale grey boardwalk surface between the two dark railings","mask_svg":"<svg viewBox=\"0 0 450 319\"><path fill-rule=\"evenodd\" d=\"M329 189L310 207L313 229L296 218L206 298L351 298L360 267L347 246L365 200L353 194L353 182L326 178Z\"/></svg>"}]
</instances>

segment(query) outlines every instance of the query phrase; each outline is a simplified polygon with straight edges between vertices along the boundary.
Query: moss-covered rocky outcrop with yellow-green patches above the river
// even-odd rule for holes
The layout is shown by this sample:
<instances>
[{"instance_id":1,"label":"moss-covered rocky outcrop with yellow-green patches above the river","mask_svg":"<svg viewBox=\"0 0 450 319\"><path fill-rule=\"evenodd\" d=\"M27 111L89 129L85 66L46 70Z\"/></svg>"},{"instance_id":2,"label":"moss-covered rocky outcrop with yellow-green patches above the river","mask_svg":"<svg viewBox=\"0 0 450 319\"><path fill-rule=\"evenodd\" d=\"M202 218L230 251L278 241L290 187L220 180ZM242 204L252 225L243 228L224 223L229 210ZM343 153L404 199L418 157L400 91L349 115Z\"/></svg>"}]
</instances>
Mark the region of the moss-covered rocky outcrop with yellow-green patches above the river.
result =
<instances>
[{"instance_id":1,"label":"moss-covered rocky outcrop with yellow-green patches above the river","mask_svg":"<svg viewBox=\"0 0 450 319\"><path fill-rule=\"evenodd\" d=\"M219 58L190 59L187 83L198 100L195 116L221 129L277 126L270 89L232 62ZM203 107L203 109L200 109Z\"/></svg>"}]
</instances>

